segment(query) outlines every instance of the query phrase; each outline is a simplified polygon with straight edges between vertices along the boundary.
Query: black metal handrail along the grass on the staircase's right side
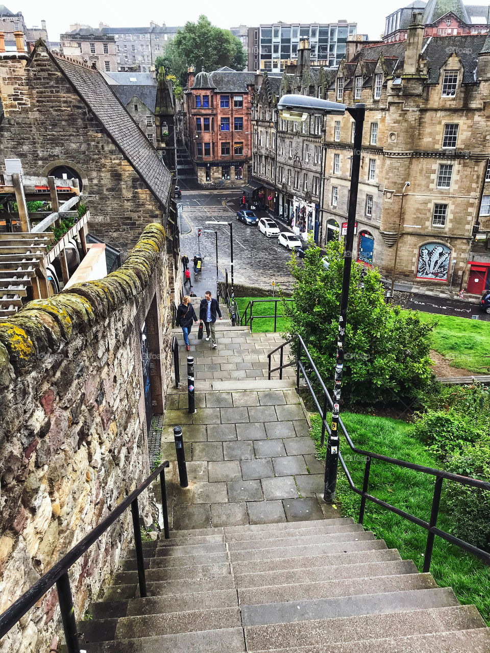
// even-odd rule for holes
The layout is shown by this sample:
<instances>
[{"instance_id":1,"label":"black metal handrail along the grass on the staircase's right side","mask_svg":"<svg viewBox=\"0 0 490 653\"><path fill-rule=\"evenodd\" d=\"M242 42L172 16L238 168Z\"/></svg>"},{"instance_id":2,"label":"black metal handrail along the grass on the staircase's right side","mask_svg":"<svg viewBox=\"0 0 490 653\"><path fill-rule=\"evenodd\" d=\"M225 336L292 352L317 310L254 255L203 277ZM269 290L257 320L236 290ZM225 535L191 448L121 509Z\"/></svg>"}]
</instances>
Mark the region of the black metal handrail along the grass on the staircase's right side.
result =
<instances>
[{"instance_id":1,"label":"black metal handrail along the grass on the staircase's right side","mask_svg":"<svg viewBox=\"0 0 490 653\"><path fill-rule=\"evenodd\" d=\"M298 346L297 346L297 351L295 358L291 362L284 363L283 359L283 352L284 352L284 347L286 345L291 345L293 342L297 341ZM271 369L271 357L274 355L277 351L281 352L281 358L280 358L280 364L278 367ZM279 370L280 373L280 378L282 378L282 370L284 368L290 367L292 365L296 366L296 387L299 389L299 378L300 378L300 372L304 377L304 380L306 381L306 385L308 386L308 389L310 390L310 394L312 396L312 399L315 402L316 407L318 408L318 412L321 415L321 446L325 444L325 433L327 436L331 435L331 430L330 426L327 423L327 414L329 411L333 409L333 400L330 396L329 391L325 387L325 383L323 383L323 379L321 378L316 365L314 364L312 357L310 356L310 352L308 351L306 345L304 344L303 339L299 335L295 335L292 338L289 338L289 340L286 340L286 342L283 342L280 344L276 349L273 349L272 351L269 352L267 355L269 358L269 379L270 375L272 372L277 372ZM318 397L316 396L316 392L314 390L314 387L312 385L312 381L308 377L308 372L305 370L304 365L302 363L301 358L306 357L310 364L310 370L314 373L314 376L316 377L316 381L321 387L321 390L323 391L323 404L320 404ZM327 413L328 411L328 413ZM404 517L408 521L417 524L417 526L421 526L421 528L425 528L427 530L427 544L425 547L425 555L424 555L424 562L423 562L423 571L424 573L428 573L431 569L431 560L432 560L432 554L433 554L433 547L434 547L434 537L437 535L438 537L442 537L442 539L445 539L449 543L459 547L460 549L464 549L472 554L474 556L480 558L481 560L485 560L485 562L490 563L490 553L487 551L484 551L483 549L478 549L478 547L474 547L473 545L469 544L468 542L465 542L464 540L460 539L459 537L455 537L454 535L451 535L449 533L446 533L446 531L440 530L437 528L437 518L438 518L438 513L439 513L439 505L440 505L440 497L441 497L441 492L442 492L442 483L446 479L448 481L453 481L454 483L460 483L461 485L468 485L471 487L475 488L480 488L480 490L490 490L490 483L487 481L480 481L478 479L474 479L472 477L466 477L466 476L461 476L459 474L452 473L450 471L444 471L444 470L436 470L431 467L425 467L423 465L417 465L413 462L407 462L406 460L399 460L398 458L391 458L390 456L384 456L382 454L378 453L373 453L372 451L366 451L365 449L358 449L355 447L350 435L347 432L347 429L344 425L344 422L342 422L341 419L338 421L340 425L340 430L342 431L342 434L346 438L346 441L353 453L359 454L360 456L365 456L366 458L366 465L365 465L365 471L364 471L364 479L363 479L363 488L360 490L355 483L352 480L352 477L349 473L349 470L344 462L344 458L342 458L342 454L338 453L338 459L340 460L340 465L342 466L342 469L344 470L344 473L346 475L347 481L349 483L349 486L353 492L356 494L359 494L361 496L361 506L359 509L359 524L363 524L364 522L364 513L365 513L365 507L366 507L366 501L369 500L373 503L376 503L377 505L380 505L381 507L391 511L392 513L395 513L396 515L399 515L400 517ZM404 467L409 470L414 470L418 471L424 474L429 474L433 475L436 477L436 482L434 485L434 493L433 493L433 501L431 505L431 517L430 521L426 522L423 519L420 519L419 517L416 517L415 515L412 515L411 513L407 513L404 510L400 510L394 505L391 505L391 503L387 503L382 501L381 499L378 499L375 496L372 496L372 494L368 494L368 485L369 485L369 475L370 475L370 467L371 467L371 460L382 460L383 462L386 462L391 465L396 465L398 467Z\"/></svg>"}]
</instances>

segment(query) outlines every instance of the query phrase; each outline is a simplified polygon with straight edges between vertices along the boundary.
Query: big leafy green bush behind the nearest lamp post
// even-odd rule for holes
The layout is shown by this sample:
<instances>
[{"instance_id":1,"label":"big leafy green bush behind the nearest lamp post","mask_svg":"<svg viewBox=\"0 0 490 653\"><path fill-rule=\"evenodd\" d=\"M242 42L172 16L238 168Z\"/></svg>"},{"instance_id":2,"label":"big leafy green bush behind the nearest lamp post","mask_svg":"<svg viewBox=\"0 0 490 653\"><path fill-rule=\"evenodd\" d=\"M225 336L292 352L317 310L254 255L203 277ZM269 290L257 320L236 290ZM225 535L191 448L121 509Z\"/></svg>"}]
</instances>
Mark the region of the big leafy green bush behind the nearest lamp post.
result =
<instances>
[{"instance_id":1,"label":"big leafy green bush behind the nearest lamp post","mask_svg":"<svg viewBox=\"0 0 490 653\"><path fill-rule=\"evenodd\" d=\"M331 241L325 259L319 247L306 251L304 266L293 258L294 301L283 307L289 332L301 335L329 389L336 361L343 249L341 242ZM342 399L394 404L425 389L432 378L432 329L433 324L421 321L417 313L385 304L378 270L353 263Z\"/></svg>"}]
</instances>

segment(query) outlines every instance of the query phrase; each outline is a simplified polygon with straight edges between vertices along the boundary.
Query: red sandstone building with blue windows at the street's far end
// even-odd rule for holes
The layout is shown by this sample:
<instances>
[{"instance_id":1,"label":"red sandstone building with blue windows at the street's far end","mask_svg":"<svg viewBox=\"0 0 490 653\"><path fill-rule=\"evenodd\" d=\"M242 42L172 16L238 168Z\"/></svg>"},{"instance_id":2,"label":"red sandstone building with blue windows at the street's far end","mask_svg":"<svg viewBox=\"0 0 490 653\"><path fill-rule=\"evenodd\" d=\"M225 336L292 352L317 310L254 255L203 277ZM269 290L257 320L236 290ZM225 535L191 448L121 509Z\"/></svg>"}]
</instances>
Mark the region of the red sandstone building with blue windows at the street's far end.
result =
<instances>
[{"instance_id":1,"label":"red sandstone building with blue windows at the street's far end","mask_svg":"<svg viewBox=\"0 0 490 653\"><path fill-rule=\"evenodd\" d=\"M228 67L189 72L187 145L199 183L242 185L252 176L254 78Z\"/></svg>"}]
</instances>

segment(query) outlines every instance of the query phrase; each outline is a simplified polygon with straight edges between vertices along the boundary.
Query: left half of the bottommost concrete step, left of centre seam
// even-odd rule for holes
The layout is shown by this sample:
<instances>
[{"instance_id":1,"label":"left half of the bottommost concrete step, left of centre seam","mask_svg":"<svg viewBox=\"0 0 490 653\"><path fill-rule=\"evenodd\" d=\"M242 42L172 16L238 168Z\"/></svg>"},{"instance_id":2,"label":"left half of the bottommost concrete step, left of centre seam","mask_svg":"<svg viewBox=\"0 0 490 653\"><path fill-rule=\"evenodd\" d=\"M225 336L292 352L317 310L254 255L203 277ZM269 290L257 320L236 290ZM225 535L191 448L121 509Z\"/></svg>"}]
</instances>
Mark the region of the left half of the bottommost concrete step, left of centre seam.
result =
<instances>
[{"instance_id":1,"label":"left half of the bottommost concrete step, left of centre seam","mask_svg":"<svg viewBox=\"0 0 490 653\"><path fill-rule=\"evenodd\" d=\"M221 628L85 645L87 653L242 653L242 628Z\"/></svg>"}]
</instances>

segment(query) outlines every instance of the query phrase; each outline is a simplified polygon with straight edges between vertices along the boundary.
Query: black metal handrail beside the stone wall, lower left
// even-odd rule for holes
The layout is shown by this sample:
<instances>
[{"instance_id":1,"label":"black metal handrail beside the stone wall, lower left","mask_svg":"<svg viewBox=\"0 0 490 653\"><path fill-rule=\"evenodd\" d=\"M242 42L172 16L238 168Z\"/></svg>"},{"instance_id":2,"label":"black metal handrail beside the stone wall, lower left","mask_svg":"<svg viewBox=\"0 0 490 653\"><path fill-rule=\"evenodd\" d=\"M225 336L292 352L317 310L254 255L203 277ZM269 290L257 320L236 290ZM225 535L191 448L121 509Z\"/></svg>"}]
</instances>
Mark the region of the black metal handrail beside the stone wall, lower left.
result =
<instances>
[{"instance_id":1,"label":"black metal handrail beside the stone wall, lower left","mask_svg":"<svg viewBox=\"0 0 490 653\"><path fill-rule=\"evenodd\" d=\"M118 517L131 505L131 513L133 516L133 532L135 535L135 549L138 569L138 581L140 588L140 596L146 597L146 579L144 573L144 559L143 547L141 539L141 527L139 520L139 507L138 497L146 490L148 485L160 476L161 486L161 504L163 509L163 529L165 538L170 537L169 533L169 515L167 511L167 493L165 491L165 469L170 466L168 460L159 466L147 479L139 485L134 492L125 498L114 510L101 521L98 526L95 526L91 532L86 535L78 544L69 550L69 552L59 560L48 572L42 576L39 581L35 582L31 588L24 592L10 607L2 614L0 614L0 639L8 633L10 628L22 619L25 613L41 599L46 592L56 583L58 591L59 609L61 611L61 621L63 622L63 630L65 631L65 640L67 643L68 653L80 653L80 642L78 641L78 633L76 631L76 621L73 609L73 597L71 594L70 581L68 576L69 569L75 562L81 558L84 553L90 549L91 545L95 543L103 533L106 532Z\"/></svg>"}]
</instances>

